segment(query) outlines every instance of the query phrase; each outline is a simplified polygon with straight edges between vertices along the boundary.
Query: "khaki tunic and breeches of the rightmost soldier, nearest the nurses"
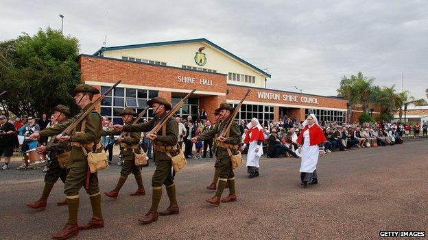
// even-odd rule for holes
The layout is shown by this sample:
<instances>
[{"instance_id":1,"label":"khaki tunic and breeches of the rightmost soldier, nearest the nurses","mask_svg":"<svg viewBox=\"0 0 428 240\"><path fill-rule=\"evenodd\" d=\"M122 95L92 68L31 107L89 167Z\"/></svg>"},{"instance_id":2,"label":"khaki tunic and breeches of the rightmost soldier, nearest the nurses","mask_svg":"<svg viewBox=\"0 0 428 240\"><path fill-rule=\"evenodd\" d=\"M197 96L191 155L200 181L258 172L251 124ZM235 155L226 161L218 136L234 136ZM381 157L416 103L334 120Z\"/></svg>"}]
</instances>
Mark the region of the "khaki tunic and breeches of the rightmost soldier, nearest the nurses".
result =
<instances>
[{"instance_id":1,"label":"khaki tunic and breeches of the rightmost soldier, nearest the nurses","mask_svg":"<svg viewBox=\"0 0 428 240\"><path fill-rule=\"evenodd\" d=\"M222 132L222 130L226 127L226 124L227 124L227 121L222 121L222 122L219 122L218 124L215 124L215 126L209 131L206 131L198 135L197 137L198 141L212 139L213 137L215 137L215 135L219 135ZM229 137L226 137L226 140L224 141L224 143L234 144L234 145L240 144L241 136L239 134L240 134L239 125L234 121L232 126L230 127ZM238 150L231 149L231 152L233 155L237 155ZM219 168L219 178L233 178L235 174L233 173L232 160L230 159L226 148L222 148L221 146L217 145L215 149L215 156L217 157L217 161L218 161L218 163L216 161L215 166Z\"/></svg>"}]
</instances>

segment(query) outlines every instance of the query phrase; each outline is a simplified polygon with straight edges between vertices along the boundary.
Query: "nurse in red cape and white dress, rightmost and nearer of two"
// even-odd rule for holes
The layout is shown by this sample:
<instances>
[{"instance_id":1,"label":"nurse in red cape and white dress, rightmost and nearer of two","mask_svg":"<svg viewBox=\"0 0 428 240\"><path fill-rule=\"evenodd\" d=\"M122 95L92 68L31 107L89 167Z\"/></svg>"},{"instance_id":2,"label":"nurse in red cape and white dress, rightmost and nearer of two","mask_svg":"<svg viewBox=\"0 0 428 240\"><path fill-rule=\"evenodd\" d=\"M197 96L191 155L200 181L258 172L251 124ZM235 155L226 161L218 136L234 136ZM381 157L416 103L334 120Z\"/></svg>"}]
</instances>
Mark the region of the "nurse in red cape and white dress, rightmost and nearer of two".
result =
<instances>
[{"instance_id":1,"label":"nurse in red cape and white dress, rightmost and nearer of two","mask_svg":"<svg viewBox=\"0 0 428 240\"><path fill-rule=\"evenodd\" d=\"M318 184L316 165L318 157L325 153L324 142L326 142L326 138L315 115L309 115L303 122L303 129L297 142L300 147L296 154L302 156L300 164L301 185L303 187L307 187L308 183L309 185L316 185Z\"/></svg>"}]
</instances>

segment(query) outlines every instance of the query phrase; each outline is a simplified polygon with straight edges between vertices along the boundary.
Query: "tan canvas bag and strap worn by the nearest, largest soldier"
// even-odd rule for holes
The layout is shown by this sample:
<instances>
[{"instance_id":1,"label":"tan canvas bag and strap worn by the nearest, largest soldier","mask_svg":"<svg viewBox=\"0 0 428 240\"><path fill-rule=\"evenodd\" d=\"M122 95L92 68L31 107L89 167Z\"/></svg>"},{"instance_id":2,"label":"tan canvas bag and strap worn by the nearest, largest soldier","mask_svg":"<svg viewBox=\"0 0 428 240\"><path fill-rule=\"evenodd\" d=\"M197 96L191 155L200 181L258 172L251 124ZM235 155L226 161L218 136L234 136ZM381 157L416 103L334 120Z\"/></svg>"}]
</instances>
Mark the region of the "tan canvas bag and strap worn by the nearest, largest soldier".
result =
<instances>
[{"instance_id":1,"label":"tan canvas bag and strap worn by the nearest, largest soldier","mask_svg":"<svg viewBox=\"0 0 428 240\"><path fill-rule=\"evenodd\" d=\"M75 134L84 133L85 125L86 119L82 121L80 132L75 132ZM84 155L87 157L88 168L91 174L97 172L98 170L104 170L108 168L106 152L104 151L104 148L102 147L102 144L100 142L97 142L96 144L92 142L89 144L72 142L71 146L78 146L82 148ZM100 148L102 149L101 152L97 152L97 150L99 150Z\"/></svg>"}]
</instances>

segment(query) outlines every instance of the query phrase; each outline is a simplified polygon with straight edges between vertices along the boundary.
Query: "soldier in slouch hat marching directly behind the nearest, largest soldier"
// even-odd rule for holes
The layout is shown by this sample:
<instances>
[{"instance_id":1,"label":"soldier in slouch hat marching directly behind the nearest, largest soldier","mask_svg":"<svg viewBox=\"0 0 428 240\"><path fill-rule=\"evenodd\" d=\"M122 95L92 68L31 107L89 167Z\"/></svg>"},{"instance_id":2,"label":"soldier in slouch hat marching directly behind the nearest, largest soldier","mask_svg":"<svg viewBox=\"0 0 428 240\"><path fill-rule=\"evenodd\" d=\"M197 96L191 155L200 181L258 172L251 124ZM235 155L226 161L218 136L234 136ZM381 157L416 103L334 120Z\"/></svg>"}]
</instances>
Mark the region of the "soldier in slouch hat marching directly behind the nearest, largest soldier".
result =
<instances>
[{"instance_id":1,"label":"soldier in slouch hat marching directly behind the nearest, largest soldier","mask_svg":"<svg viewBox=\"0 0 428 240\"><path fill-rule=\"evenodd\" d=\"M178 214L176 185L174 175L171 173L171 157L177 154L178 124L174 117L167 119L167 123L157 133L150 131L160 122L167 111L171 110L171 104L164 98L156 97L147 101L147 105L152 107L154 118L146 123L128 124L125 126L115 125L116 131L145 132L147 139L153 143L154 162L156 170L152 176L152 206L144 217L139 219L142 224L150 224L158 220L158 215ZM162 197L162 185L165 185L169 198L169 206L165 211L158 213L158 205Z\"/></svg>"}]
</instances>

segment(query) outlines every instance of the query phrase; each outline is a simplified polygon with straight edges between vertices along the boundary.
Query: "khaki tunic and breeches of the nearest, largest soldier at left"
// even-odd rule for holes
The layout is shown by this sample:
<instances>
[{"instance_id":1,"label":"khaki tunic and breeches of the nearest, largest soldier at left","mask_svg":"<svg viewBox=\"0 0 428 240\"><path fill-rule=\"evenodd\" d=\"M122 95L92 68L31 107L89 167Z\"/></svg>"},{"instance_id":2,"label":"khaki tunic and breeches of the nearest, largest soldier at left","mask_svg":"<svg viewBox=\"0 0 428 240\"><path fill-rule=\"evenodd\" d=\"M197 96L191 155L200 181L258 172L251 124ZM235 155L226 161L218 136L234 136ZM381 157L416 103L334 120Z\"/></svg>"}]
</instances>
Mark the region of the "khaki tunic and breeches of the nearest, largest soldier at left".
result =
<instances>
[{"instance_id":1,"label":"khaki tunic and breeches of the nearest, largest soldier at left","mask_svg":"<svg viewBox=\"0 0 428 240\"><path fill-rule=\"evenodd\" d=\"M86 105L81 113L88 109L90 105ZM82 122L80 122L74 129L73 135L70 137L71 143L80 143L80 144L93 144L99 143L101 141L102 133L102 120L99 113L93 109L84 119L85 128L82 128ZM64 122L62 124L56 124L49 129L44 129L40 131L40 136L51 136L60 134L64 129L69 126L71 122ZM92 149L88 149L91 151ZM101 152L102 148L97 149L97 152ZM64 184L64 194L67 196L78 196L80 188L84 187L86 184L86 174L88 172L88 161L87 157L84 154L80 146L71 147L71 157L70 157L70 168L67 180ZM94 195L99 193L98 187L98 175L97 172L90 175L89 187L86 189L86 192L89 195Z\"/></svg>"}]
</instances>

